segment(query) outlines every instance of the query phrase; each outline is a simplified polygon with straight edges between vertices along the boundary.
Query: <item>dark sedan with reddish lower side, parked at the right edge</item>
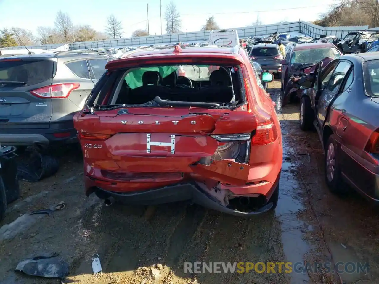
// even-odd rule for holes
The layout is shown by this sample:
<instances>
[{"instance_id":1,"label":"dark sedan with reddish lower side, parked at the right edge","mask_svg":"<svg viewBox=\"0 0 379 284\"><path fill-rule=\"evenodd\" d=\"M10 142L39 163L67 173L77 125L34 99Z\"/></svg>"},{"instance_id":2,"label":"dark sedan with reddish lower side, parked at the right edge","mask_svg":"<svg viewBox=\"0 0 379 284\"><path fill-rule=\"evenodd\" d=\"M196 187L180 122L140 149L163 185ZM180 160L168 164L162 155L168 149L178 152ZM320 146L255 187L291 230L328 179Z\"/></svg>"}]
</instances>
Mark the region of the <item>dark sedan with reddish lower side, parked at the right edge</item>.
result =
<instances>
[{"instance_id":1,"label":"dark sedan with reddish lower side, parked at the right edge","mask_svg":"<svg viewBox=\"0 0 379 284\"><path fill-rule=\"evenodd\" d=\"M325 179L343 193L345 181L379 202L379 53L344 55L315 80L300 84L300 128L313 126L325 150Z\"/></svg>"}]
</instances>

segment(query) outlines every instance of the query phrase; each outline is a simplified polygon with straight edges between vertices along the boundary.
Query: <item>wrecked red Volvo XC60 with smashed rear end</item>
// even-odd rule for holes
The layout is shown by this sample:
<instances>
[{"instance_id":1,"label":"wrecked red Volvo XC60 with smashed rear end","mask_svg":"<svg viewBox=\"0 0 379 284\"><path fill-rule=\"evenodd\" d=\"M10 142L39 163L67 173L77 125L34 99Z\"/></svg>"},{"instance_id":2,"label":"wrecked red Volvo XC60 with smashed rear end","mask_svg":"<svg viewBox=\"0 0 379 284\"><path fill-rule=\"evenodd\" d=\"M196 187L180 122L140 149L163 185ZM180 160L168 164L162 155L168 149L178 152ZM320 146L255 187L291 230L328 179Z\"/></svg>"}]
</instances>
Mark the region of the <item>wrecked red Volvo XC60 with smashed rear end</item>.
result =
<instances>
[{"instance_id":1,"label":"wrecked red Volvo XC60 with smashed rear end","mask_svg":"<svg viewBox=\"0 0 379 284\"><path fill-rule=\"evenodd\" d=\"M279 121L242 48L141 51L106 69L74 117L87 195L234 215L276 207Z\"/></svg>"}]
</instances>

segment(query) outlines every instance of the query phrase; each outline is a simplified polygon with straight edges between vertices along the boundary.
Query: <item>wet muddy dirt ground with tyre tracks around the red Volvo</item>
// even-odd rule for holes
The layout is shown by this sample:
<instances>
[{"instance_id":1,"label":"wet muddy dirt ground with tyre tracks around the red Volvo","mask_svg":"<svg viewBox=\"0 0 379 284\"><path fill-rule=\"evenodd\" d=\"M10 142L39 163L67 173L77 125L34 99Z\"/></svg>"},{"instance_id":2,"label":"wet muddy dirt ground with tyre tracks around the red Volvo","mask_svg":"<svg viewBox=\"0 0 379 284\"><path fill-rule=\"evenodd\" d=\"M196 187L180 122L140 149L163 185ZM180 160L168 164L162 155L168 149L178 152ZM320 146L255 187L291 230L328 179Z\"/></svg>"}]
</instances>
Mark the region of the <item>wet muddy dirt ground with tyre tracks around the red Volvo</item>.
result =
<instances>
[{"instance_id":1,"label":"wet muddy dirt ground with tyre tracks around the red Volvo","mask_svg":"<svg viewBox=\"0 0 379 284\"><path fill-rule=\"evenodd\" d=\"M245 219L187 203L107 207L95 196L84 195L81 153L64 150L58 173L38 183L21 182L21 198L9 205L0 229L0 236L7 233L5 239L0 237L0 283L60 283L14 272L22 259L52 252L70 266L65 283L378 283L377 209L352 191L342 197L328 191L316 132L300 130L298 104L282 109L280 82L271 83L268 92L276 102L283 133L275 212ZM66 208L51 215L27 214L60 201ZM103 268L96 276L91 266L95 253ZM368 273L339 274L325 269L184 273L184 262L287 261L368 262L370 268Z\"/></svg>"}]
</instances>

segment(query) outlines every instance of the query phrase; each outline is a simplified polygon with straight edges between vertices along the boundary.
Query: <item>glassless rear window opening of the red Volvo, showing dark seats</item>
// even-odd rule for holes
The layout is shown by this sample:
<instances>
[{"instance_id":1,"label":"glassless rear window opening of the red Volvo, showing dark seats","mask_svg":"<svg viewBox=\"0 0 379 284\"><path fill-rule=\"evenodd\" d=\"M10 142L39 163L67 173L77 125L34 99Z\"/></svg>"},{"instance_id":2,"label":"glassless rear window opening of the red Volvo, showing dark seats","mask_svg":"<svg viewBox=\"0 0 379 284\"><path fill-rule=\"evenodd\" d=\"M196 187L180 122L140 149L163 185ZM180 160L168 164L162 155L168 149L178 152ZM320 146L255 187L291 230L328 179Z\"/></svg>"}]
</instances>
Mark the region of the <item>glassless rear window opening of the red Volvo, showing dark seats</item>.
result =
<instances>
[{"instance_id":1,"label":"glassless rear window opening of the red Volvo, showing dark seats","mask_svg":"<svg viewBox=\"0 0 379 284\"><path fill-rule=\"evenodd\" d=\"M174 101L176 104L171 106L179 107L201 103L211 107L213 103L212 107L229 108L245 101L239 66L169 65L117 72L119 81L103 105L165 106L163 100Z\"/></svg>"}]
</instances>

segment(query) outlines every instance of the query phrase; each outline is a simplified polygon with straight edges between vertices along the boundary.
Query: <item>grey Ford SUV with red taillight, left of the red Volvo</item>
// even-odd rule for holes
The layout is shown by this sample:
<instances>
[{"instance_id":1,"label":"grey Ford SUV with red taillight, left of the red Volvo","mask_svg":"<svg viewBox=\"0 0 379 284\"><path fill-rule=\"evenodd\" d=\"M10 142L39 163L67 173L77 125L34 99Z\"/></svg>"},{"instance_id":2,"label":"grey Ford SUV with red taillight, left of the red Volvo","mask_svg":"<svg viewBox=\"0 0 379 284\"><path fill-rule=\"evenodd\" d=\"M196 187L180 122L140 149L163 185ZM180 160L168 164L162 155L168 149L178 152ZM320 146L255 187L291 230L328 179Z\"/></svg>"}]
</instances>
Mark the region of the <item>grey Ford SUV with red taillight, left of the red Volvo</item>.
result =
<instances>
[{"instance_id":1,"label":"grey Ford SUV with red taillight, left of the red Volvo","mask_svg":"<svg viewBox=\"0 0 379 284\"><path fill-rule=\"evenodd\" d=\"M0 145L74 142L74 114L112 59L88 51L0 58Z\"/></svg>"}]
</instances>

